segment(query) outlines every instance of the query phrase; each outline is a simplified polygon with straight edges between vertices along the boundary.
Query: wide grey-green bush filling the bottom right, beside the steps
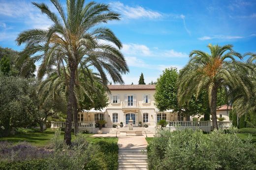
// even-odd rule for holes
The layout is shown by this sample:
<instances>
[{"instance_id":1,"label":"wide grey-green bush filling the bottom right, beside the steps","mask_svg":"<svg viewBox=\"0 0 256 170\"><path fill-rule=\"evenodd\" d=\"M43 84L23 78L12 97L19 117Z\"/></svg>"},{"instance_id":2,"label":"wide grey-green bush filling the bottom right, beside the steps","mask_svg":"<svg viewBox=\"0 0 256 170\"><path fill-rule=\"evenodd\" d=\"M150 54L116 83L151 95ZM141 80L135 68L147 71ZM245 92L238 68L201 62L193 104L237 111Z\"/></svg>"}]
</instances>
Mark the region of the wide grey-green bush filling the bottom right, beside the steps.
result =
<instances>
[{"instance_id":1,"label":"wide grey-green bush filling the bottom right, beside the steps","mask_svg":"<svg viewBox=\"0 0 256 170\"><path fill-rule=\"evenodd\" d=\"M256 169L256 147L251 138L242 141L223 131L205 135L199 130L161 130L147 151L150 170Z\"/></svg>"}]
</instances>

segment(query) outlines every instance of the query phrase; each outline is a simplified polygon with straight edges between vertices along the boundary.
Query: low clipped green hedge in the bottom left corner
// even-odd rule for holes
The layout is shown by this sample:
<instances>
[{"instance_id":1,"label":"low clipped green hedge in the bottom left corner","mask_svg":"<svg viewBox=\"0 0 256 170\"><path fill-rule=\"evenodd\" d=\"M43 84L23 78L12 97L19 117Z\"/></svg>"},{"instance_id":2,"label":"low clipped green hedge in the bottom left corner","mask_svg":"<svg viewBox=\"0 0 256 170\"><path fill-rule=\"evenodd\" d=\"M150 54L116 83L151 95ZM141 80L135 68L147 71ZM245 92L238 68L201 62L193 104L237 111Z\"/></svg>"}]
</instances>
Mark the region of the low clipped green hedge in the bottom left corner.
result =
<instances>
[{"instance_id":1,"label":"low clipped green hedge in the bottom left corner","mask_svg":"<svg viewBox=\"0 0 256 170\"><path fill-rule=\"evenodd\" d=\"M47 170L47 159L32 159L29 161L0 161L0 170Z\"/></svg>"}]
</instances>

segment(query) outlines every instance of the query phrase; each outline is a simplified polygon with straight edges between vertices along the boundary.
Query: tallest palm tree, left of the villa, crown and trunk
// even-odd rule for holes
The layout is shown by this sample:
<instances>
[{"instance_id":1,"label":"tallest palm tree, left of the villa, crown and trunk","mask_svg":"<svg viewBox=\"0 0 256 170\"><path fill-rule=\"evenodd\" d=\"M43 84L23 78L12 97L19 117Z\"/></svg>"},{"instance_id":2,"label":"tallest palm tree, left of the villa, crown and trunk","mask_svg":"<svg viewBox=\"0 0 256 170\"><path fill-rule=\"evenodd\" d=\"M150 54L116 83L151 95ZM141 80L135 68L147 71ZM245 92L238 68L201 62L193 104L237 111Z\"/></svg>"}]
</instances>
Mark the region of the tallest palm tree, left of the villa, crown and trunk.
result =
<instances>
[{"instance_id":1,"label":"tallest palm tree, left of the villa, crown and trunk","mask_svg":"<svg viewBox=\"0 0 256 170\"><path fill-rule=\"evenodd\" d=\"M120 49L122 43L102 23L120 20L120 15L110 10L109 5L85 0L66 0L66 13L58 0L51 0L58 11L52 12L45 3L33 4L46 14L53 24L47 29L29 29L21 32L17 44L26 43L19 62L28 57L41 61L38 78L42 79L57 62L58 69L67 66L68 79L67 116L64 141L71 144L71 119L74 104L74 85L78 67L91 64L100 74L104 85L107 75L114 83L123 83L122 74L128 72L126 60ZM103 40L103 41L102 41ZM110 42L109 45L104 42Z\"/></svg>"}]
</instances>

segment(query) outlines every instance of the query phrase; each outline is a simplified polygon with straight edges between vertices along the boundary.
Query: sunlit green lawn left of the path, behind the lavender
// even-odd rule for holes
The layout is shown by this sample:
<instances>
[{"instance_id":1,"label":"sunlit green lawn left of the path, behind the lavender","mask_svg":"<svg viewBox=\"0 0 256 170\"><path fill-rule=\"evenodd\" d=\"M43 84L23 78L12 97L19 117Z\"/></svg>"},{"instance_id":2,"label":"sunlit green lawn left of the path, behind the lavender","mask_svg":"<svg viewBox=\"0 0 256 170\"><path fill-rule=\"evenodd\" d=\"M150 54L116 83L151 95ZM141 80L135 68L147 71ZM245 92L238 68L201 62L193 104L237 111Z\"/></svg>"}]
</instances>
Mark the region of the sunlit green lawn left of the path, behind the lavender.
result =
<instances>
[{"instance_id":1,"label":"sunlit green lawn left of the path, behind the lavender","mask_svg":"<svg viewBox=\"0 0 256 170\"><path fill-rule=\"evenodd\" d=\"M14 136L9 137L1 137L0 141L8 141L8 142L30 142L35 146L46 146L50 144L51 139L53 138L55 130L47 129L44 132L34 132L34 133L26 133L26 134L16 134ZM64 136L64 132L61 133ZM100 138L100 137L92 137L93 134L83 134L87 137L88 142L116 142L117 138ZM71 135L72 140L74 140L75 136Z\"/></svg>"}]
</instances>

